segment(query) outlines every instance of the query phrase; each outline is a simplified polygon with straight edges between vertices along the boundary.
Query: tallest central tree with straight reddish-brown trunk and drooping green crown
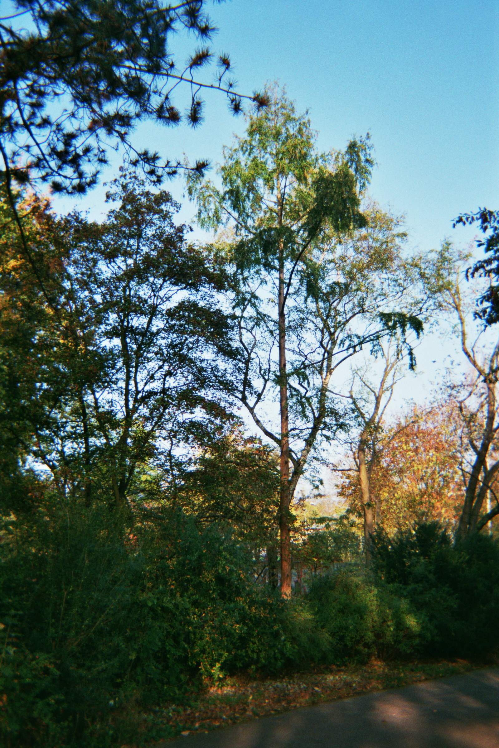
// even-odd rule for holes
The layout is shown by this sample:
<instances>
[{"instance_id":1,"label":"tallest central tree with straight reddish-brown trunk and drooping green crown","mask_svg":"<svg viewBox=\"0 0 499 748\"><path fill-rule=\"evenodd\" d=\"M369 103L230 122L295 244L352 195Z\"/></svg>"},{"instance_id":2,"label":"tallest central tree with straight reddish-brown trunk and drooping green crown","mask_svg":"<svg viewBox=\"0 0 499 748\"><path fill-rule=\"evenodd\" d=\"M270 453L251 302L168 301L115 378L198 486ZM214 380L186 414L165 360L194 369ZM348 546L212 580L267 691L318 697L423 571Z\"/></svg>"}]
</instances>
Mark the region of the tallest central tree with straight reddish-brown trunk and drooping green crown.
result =
<instances>
[{"instance_id":1,"label":"tallest central tree with straight reddish-brown trunk and drooping green crown","mask_svg":"<svg viewBox=\"0 0 499 748\"><path fill-rule=\"evenodd\" d=\"M236 269L238 397L281 453L281 592L288 596L290 502L313 450L345 423L331 395L333 375L363 346L420 322L402 313L407 278L394 272L397 248L360 209L373 165L369 137L319 154L307 115L277 88L269 99L225 151L221 191L195 175L188 185L201 224L228 223L235 233L227 256ZM275 396L278 429L269 425Z\"/></svg>"}]
</instances>

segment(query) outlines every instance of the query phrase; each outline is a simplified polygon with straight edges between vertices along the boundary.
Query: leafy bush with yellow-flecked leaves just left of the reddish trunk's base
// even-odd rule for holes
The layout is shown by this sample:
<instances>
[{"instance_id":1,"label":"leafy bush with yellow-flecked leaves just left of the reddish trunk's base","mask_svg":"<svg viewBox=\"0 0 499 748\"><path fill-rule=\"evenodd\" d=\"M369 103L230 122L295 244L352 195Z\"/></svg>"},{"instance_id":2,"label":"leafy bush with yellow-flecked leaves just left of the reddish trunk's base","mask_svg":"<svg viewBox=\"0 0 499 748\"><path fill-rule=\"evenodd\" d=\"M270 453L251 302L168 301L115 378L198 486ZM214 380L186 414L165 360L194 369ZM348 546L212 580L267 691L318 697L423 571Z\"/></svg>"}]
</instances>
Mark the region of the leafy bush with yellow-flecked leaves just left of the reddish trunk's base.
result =
<instances>
[{"instance_id":1,"label":"leafy bush with yellow-flecked leaves just left of the reddish trunk's base","mask_svg":"<svg viewBox=\"0 0 499 748\"><path fill-rule=\"evenodd\" d=\"M217 527L199 533L181 513L162 533L148 551L148 584L159 610L172 601L183 607L189 666L208 678L279 669L287 659L285 606L278 592L254 583L251 554Z\"/></svg>"}]
</instances>

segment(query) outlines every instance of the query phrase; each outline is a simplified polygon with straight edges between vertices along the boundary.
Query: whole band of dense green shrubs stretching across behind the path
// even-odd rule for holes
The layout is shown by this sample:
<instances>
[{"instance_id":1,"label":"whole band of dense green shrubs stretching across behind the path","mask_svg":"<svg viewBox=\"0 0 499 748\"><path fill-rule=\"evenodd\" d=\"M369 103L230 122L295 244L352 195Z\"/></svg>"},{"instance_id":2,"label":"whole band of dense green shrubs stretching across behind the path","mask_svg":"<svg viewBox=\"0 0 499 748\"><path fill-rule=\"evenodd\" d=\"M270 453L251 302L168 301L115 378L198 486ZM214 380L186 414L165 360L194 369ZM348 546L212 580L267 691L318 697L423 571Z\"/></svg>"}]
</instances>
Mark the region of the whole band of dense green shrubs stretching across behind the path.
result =
<instances>
[{"instance_id":1,"label":"whole band of dense green shrubs stretching across behind the path","mask_svg":"<svg viewBox=\"0 0 499 748\"><path fill-rule=\"evenodd\" d=\"M485 536L453 545L435 525L379 534L372 572L343 564L282 601L255 583L244 545L183 512L145 512L132 532L105 507L44 503L23 517L11 515L0 543L10 748L127 743L144 705L190 699L242 669L497 646L499 548Z\"/></svg>"}]
</instances>

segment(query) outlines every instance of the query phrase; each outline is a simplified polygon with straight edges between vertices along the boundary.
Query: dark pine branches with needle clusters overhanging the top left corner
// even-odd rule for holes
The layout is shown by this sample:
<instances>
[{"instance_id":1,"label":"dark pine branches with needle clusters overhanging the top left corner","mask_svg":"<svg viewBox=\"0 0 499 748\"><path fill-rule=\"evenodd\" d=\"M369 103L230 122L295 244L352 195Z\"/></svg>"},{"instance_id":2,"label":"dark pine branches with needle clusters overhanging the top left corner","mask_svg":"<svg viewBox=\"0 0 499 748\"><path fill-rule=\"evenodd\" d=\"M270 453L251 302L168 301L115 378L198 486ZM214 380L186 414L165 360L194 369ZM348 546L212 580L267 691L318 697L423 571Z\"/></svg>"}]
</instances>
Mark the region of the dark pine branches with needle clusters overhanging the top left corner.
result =
<instances>
[{"instance_id":1,"label":"dark pine branches with needle clusters overhanging the top left corner","mask_svg":"<svg viewBox=\"0 0 499 748\"><path fill-rule=\"evenodd\" d=\"M206 47L215 28L206 2L162 0L16 0L2 19L0 64L0 148L4 169L17 180L41 179L54 191L81 194L94 187L108 147L123 147L129 162L141 164L159 182L180 162L132 146L130 136L144 119L175 126L182 115L174 91L191 85L186 120L203 121L200 69L212 61ZM21 16L21 25L19 25ZM26 18L28 16L28 18ZM195 34L205 46L194 49L183 70L171 51L175 34ZM225 78L227 54L219 55L216 80L234 114L249 99L266 105L259 93L236 93ZM197 82L192 88L192 76ZM215 86L216 88L217 86ZM8 154L8 155L7 155ZM197 162L202 171L207 162Z\"/></svg>"}]
</instances>

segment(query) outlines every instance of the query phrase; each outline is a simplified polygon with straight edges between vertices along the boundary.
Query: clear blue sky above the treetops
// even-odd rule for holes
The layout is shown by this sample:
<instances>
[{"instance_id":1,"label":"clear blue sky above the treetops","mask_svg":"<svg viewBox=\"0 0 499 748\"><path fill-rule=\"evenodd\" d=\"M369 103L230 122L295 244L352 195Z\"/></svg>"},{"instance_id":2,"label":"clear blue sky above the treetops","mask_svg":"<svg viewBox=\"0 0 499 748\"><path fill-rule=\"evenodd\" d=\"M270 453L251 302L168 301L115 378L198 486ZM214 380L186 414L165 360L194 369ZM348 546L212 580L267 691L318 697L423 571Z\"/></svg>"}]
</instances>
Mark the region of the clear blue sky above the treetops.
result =
<instances>
[{"instance_id":1,"label":"clear blue sky above the treetops","mask_svg":"<svg viewBox=\"0 0 499 748\"><path fill-rule=\"evenodd\" d=\"M446 236L465 246L476 230L453 230L453 218L478 206L499 209L499 0L232 0L209 13L219 29L212 50L230 52L239 91L285 85L298 110L309 110L321 150L370 132L378 162L370 193L405 214L410 248L429 251ZM179 67L194 46L174 39ZM147 124L135 141L215 165L244 129L224 97L209 93L199 129ZM168 188L182 200L181 180ZM100 187L81 203L93 218L104 215L102 196ZM184 200L180 219L192 221L194 212ZM423 401L446 355L459 358L451 340L425 336L420 373L408 376L394 402Z\"/></svg>"}]
</instances>

